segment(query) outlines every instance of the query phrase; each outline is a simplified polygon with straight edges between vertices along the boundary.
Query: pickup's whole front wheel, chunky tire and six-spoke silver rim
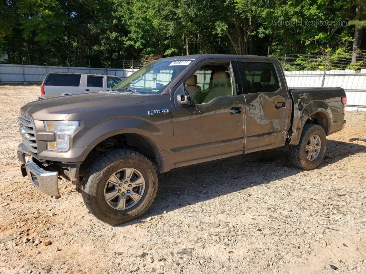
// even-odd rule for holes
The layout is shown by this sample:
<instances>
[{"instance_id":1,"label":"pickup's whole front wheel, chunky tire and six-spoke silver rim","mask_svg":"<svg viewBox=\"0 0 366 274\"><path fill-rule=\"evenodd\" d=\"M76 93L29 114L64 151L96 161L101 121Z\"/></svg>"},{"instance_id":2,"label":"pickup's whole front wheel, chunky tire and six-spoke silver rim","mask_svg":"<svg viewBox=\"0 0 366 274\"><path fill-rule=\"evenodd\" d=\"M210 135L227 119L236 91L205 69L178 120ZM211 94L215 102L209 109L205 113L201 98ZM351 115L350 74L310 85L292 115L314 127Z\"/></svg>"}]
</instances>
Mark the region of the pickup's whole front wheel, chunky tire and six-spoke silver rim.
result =
<instances>
[{"instance_id":1,"label":"pickup's whole front wheel, chunky tire and six-spoke silver rim","mask_svg":"<svg viewBox=\"0 0 366 274\"><path fill-rule=\"evenodd\" d=\"M157 173L142 154L118 149L100 156L88 168L82 184L87 209L111 225L140 217L157 192Z\"/></svg>"}]
</instances>

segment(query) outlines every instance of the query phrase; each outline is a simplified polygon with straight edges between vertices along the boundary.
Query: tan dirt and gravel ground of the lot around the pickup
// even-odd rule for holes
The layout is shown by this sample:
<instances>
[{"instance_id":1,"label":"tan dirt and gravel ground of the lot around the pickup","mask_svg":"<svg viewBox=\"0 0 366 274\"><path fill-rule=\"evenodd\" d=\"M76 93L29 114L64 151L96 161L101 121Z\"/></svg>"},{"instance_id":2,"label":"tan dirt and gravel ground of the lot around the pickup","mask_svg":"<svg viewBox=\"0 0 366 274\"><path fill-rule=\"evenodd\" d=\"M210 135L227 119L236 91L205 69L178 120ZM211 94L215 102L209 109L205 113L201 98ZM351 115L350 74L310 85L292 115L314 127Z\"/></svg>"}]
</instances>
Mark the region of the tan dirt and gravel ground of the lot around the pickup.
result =
<instances>
[{"instance_id":1,"label":"tan dirt and gravel ground of the lot around the pickup","mask_svg":"<svg viewBox=\"0 0 366 274\"><path fill-rule=\"evenodd\" d=\"M16 237L0 273L366 273L366 142L352 141L366 112L347 113L313 171L286 147L179 168L142 218L111 227L69 182L55 199L20 175L19 108L39 93L0 86L0 240Z\"/></svg>"}]
</instances>

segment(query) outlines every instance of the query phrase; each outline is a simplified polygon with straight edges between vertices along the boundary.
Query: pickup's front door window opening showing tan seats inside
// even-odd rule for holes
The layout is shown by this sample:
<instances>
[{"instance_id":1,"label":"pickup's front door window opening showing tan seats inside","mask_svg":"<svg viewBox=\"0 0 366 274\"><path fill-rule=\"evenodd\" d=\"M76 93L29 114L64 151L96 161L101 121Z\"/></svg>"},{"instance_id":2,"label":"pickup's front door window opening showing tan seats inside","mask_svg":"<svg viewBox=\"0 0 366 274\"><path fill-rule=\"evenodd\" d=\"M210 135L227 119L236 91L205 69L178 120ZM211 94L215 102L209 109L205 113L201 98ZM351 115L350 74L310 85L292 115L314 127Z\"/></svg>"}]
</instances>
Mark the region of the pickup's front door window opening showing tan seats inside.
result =
<instances>
[{"instance_id":1,"label":"pickup's front door window opening showing tan seats inside","mask_svg":"<svg viewBox=\"0 0 366 274\"><path fill-rule=\"evenodd\" d=\"M192 104L206 104L219 96L232 95L232 76L227 64L205 65L184 82L194 99Z\"/></svg>"}]
</instances>

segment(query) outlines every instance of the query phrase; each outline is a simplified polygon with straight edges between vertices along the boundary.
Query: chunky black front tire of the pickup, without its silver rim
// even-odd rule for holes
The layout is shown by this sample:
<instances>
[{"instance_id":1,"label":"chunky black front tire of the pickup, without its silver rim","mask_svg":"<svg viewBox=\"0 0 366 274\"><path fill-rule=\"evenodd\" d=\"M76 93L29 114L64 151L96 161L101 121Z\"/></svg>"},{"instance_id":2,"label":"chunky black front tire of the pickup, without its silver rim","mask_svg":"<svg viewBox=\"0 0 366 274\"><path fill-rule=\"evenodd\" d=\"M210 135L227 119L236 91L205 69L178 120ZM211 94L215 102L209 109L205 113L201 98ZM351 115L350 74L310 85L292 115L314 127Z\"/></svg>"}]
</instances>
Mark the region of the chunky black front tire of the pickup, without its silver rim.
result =
<instances>
[{"instance_id":1,"label":"chunky black front tire of the pickup, without its silver rim","mask_svg":"<svg viewBox=\"0 0 366 274\"><path fill-rule=\"evenodd\" d=\"M142 198L132 208L111 208L104 198L104 187L109 177L124 167L137 169L145 178ZM101 155L86 171L82 183L82 195L86 208L99 220L119 225L142 216L151 206L158 187L157 172L149 159L128 149L117 149Z\"/></svg>"}]
</instances>

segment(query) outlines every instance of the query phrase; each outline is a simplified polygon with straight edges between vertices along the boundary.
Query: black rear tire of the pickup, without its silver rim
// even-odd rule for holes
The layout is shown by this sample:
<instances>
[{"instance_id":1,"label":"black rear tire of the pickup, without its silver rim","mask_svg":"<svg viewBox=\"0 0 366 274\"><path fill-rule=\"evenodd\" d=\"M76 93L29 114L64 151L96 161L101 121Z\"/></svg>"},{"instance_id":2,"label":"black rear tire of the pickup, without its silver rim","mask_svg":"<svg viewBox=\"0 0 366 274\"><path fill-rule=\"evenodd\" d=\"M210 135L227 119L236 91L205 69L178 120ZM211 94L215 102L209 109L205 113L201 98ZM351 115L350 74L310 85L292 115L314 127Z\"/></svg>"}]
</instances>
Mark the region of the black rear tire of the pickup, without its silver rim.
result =
<instances>
[{"instance_id":1,"label":"black rear tire of the pickup, without its silver rim","mask_svg":"<svg viewBox=\"0 0 366 274\"><path fill-rule=\"evenodd\" d=\"M314 160L309 160L306 157L306 145L309 138L317 134L321 140L321 148L319 155ZM298 145L290 145L290 161L296 167L302 168L303 170L312 170L320 165L323 160L326 148L326 134L324 129L319 125L305 124L300 142Z\"/></svg>"}]
</instances>

